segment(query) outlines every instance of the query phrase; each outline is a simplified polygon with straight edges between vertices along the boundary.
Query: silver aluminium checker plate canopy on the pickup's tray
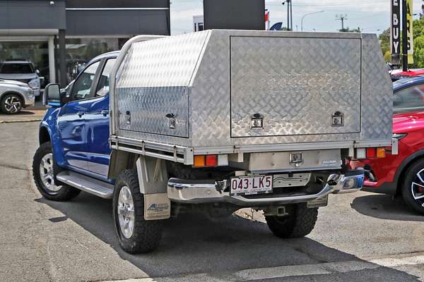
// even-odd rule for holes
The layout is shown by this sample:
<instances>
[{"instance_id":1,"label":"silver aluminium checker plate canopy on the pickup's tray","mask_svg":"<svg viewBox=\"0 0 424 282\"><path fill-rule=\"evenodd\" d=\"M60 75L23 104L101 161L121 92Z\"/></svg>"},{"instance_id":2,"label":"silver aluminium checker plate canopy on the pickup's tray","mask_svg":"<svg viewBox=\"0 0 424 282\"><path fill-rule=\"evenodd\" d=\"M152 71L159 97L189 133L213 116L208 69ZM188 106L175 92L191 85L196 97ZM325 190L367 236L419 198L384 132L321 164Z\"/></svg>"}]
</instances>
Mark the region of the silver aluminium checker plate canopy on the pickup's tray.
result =
<instances>
[{"instance_id":1,"label":"silver aluminium checker plate canopy on the pickup's tray","mask_svg":"<svg viewBox=\"0 0 424 282\"><path fill-rule=\"evenodd\" d=\"M195 152L391 145L376 35L206 30L135 39L122 52L112 137Z\"/></svg>"}]
</instances>

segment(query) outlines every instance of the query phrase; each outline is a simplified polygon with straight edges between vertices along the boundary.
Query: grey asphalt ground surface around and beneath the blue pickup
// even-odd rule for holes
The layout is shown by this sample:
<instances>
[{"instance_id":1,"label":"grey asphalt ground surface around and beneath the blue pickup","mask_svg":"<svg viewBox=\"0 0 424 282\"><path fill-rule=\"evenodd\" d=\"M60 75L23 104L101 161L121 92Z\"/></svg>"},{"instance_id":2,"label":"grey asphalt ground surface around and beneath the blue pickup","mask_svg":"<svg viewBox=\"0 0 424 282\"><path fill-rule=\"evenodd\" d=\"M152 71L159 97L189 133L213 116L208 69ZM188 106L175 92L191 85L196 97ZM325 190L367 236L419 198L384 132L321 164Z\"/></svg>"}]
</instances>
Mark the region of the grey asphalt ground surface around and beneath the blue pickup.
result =
<instances>
[{"instance_id":1,"label":"grey asphalt ground surface around and beneath the blue pickup","mask_svg":"<svg viewBox=\"0 0 424 282\"><path fill-rule=\"evenodd\" d=\"M0 124L0 281L424 281L424 217L401 200L331 195L307 238L273 237L261 216L166 222L159 249L128 255L112 203L44 200L31 161L38 123Z\"/></svg>"}]
</instances>

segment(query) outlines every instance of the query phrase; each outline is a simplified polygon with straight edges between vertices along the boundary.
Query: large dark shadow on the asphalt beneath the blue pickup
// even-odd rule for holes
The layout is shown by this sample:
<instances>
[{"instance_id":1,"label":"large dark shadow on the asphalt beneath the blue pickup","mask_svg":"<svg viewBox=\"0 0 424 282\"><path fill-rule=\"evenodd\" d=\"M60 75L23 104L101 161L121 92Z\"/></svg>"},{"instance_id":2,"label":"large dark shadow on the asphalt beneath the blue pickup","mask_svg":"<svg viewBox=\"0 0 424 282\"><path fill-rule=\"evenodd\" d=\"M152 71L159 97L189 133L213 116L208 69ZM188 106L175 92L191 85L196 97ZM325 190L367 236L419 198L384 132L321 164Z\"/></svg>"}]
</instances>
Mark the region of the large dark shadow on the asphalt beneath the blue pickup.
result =
<instances>
[{"instance_id":1,"label":"large dark shadow on the asphalt beneath the blue pickup","mask_svg":"<svg viewBox=\"0 0 424 282\"><path fill-rule=\"evenodd\" d=\"M71 202L50 202L44 198L36 201L64 214L50 221L71 219L151 277L352 260L360 262L353 255L326 247L310 238L281 240L273 236L265 223L238 216L220 221L199 215L170 219L165 221L163 240L158 250L146 255L129 255L120 249L114 233L112 201L85 192ZM386 268L379 266L374 270L377 269ZM418 281L415 276L401 271L396 273L401 281Z\"/></svg>"}]
</instances>

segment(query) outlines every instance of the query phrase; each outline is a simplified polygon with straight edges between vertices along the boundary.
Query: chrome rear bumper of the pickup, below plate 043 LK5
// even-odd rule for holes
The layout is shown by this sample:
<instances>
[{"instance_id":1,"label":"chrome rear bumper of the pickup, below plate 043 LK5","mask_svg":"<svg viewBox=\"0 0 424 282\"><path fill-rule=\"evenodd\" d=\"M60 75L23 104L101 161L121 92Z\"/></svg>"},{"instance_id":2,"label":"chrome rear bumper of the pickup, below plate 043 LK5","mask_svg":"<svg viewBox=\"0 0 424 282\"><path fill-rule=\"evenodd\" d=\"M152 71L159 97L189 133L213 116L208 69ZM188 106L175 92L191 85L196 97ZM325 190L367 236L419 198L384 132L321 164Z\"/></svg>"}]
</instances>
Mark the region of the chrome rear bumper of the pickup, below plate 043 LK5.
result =
<instances>
[{"instance_id":1,"label":"chrome rear bumper of the pickup, below plate 043 LK5","mask_svg":"<svg viewBox=\"0 0 424 282\"><path fill-rule=\"evenodd\" d=\"M364 181L363 171L348 171L345 175L331 174L326 185L314 195L300 195L289 197L261 197L245 198L240 195L230 195L223 192L227 187L227 180L183 180L171 178L167 184L167 194L173 202L200 204L207 202L229 202L240 206L263 204L292 204L319 200L331 193L355 192L362 188Z\"/></svg>"}]
</instances>

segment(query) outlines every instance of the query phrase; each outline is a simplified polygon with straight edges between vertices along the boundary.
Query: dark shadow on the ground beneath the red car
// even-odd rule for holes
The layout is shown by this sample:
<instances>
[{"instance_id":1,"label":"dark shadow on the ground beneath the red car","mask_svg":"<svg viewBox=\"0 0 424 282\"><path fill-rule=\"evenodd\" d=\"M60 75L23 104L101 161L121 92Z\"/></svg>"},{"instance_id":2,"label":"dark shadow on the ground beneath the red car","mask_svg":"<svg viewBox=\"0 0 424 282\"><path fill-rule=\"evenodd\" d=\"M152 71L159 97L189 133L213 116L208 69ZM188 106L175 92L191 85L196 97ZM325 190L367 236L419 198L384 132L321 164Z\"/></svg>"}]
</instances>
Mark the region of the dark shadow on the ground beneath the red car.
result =
<instances>
[{"instance_id":1,"label":"dark shadow on the ground beneath the red car","mask_svg":"<svg viewBox=\"0 0 424 282\"><path fill-rule=\"evenodd\" d=\"M391 195L370 194L356 197L351 207L360 214L377 219L396 221L424 221L424 216L413 212L400 197L392 199Z\"/></svg>"}]
</instances>

